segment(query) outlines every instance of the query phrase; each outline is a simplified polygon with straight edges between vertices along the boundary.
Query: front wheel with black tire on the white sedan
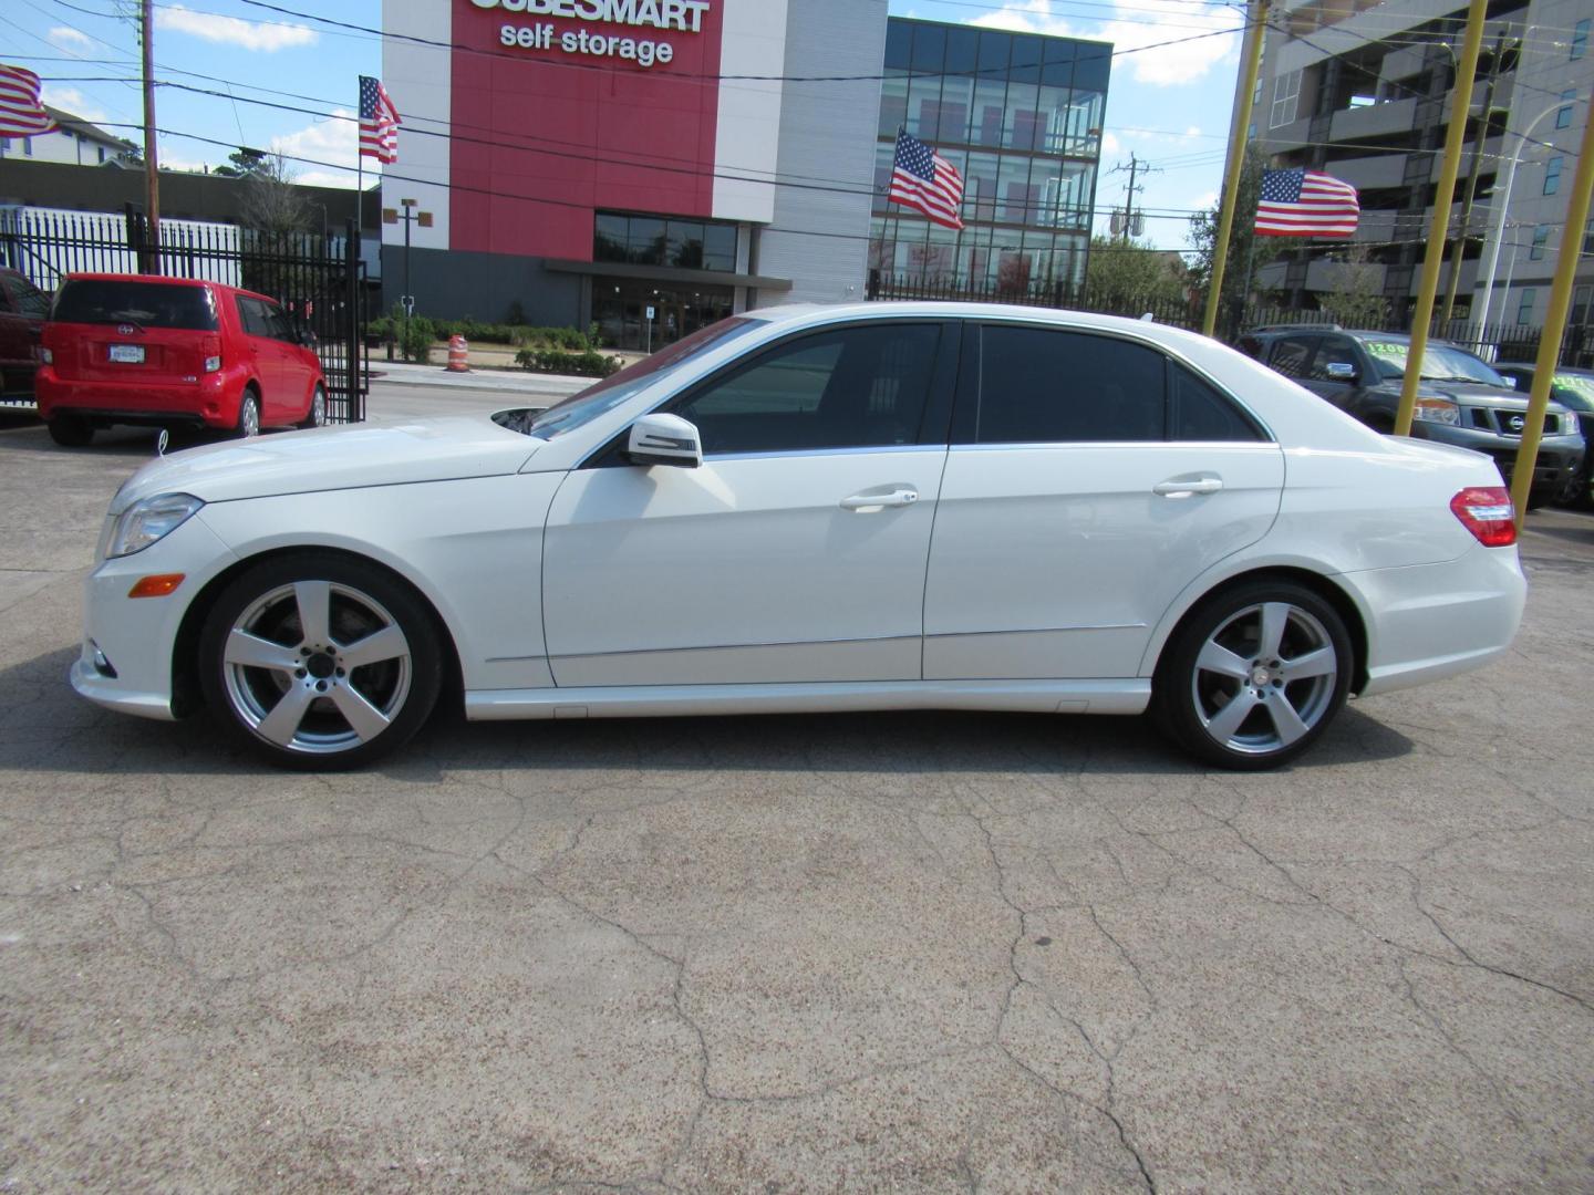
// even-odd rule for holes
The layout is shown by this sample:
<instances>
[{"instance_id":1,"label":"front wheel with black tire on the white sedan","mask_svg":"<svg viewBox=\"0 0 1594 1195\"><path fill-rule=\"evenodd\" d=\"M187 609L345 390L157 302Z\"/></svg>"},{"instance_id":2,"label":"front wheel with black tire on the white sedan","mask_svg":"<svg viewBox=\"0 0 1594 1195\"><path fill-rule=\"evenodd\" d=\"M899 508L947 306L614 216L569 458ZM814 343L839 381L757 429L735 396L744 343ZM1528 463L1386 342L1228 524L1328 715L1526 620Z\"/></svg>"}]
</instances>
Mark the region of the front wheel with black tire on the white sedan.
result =
<instances>
[{"instance_id":1,"label":"front wheel with black tire on the white sedan","mask_svg":"<svg viewBox=\"0 0 1594 1195\"><path fill-rule=\"evenodd\" d=\"M284 768L343 771L402 747L430 715L438 642L421 598L386 569L304 551L226 586L199 636L199 682L236 742Z\"/></svg>"}]
</instances>

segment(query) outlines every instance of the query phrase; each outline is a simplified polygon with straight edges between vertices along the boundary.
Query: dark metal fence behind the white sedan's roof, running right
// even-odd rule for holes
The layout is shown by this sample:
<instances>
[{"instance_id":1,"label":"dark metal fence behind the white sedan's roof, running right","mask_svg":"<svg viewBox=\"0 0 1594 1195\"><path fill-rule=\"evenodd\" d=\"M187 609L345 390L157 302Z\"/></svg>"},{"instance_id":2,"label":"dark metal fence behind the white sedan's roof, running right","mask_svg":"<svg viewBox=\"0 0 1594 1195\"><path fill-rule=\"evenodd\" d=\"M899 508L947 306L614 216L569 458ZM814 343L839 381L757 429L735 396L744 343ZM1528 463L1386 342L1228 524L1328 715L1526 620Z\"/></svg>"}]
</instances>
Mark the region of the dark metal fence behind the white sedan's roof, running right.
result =
<instances>
[{"instance_id":1,"label":"dark metal fence behind the white sedan's roof, running right","mask_svg":"<svg viewBox=\"0 0 1594 1195\"><path fill-rule=\"evenodd\" d=\"M1025 287L985 285L971 287L948 277L888 276L869 272L867 296L870 300L953 300L961 303L1014 303L1028 308L1063 308L1089 311L1101 315L1125 315L1129 319L1151 317L1157 323L1197 330L1202 327L1200 300L1168 300L1162 296L1135 298L1114 293L1070 288L1062 282L1031 284ZM1298 311L1262 304L1227 304L1218 315L1218 338L1234 344L1251 330L1277 323L1331 327L1334 317L1326 311ZM1409 333L1411 323L1384 320L1376 331ZM1466 320L1435 320L1428 335L1459 344L1490 362L1532 362L1538 357L1538 341L1543 328L1521 323L1470 323ZM1561 365L1594 365L1594 325L1568 325L1561 341Z\"/></svg>"}]
</instances>

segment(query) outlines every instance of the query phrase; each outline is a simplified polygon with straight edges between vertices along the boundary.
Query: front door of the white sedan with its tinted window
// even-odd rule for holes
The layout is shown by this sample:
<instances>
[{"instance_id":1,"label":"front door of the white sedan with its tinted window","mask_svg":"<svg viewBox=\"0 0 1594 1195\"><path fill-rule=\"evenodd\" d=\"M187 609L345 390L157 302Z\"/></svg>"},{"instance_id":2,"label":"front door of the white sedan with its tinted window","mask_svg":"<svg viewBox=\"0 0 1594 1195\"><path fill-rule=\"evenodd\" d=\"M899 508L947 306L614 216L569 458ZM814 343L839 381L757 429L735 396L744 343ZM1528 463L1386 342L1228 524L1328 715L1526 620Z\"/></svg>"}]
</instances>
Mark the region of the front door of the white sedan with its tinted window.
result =
<instances>
[{"instance_id":1,"label":"front door of the white sedan with its tinted window","mask_svg":"<svg viewBox=\"0 0 1594 1195\"><path fill-rule=\"evenodd\" d=\"M668 402L700 468L623 437L548 513L561 687L917 680L953 325L880 319L768 347Z\"/></svg>"}]
</instances>

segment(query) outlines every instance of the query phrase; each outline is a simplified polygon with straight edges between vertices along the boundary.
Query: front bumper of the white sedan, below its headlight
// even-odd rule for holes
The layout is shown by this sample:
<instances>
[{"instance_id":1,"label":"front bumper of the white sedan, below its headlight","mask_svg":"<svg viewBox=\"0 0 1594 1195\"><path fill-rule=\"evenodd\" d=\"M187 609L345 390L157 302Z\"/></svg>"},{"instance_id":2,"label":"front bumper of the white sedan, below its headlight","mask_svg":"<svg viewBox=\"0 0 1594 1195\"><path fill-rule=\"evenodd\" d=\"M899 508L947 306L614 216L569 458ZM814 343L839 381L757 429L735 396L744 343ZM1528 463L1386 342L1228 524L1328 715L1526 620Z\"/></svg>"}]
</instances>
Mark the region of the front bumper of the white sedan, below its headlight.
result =
<instances>
[{"instance_id":1,"label":"front bumper of the white sedan, below its headlight","mask_svg":"<svg viewBox=\"0 0 1594 1195\"><path fill-rule=\"evenodd\" d=\"M236 562L199 511L143 551L100 561L83 582L83 650L72 664L72 687L107 709L172 720L172 652L194 596ZM183 574L166 598L129 598L140 577ZM104 653L112 674L96 664Z\"/></svg>"}]
</instances>

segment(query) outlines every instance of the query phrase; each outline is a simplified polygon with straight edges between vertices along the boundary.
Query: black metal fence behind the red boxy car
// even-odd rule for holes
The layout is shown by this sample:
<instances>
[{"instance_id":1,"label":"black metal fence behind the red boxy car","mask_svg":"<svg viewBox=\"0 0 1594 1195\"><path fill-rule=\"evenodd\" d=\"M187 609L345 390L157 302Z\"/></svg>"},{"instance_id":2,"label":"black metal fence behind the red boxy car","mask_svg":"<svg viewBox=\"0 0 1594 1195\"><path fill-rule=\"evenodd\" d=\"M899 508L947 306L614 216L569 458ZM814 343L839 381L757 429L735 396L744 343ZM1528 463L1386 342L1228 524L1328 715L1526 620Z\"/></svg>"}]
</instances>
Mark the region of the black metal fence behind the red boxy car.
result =
<instances>
[{"instance_id":1,"label":"black metal fence behind the red boxy car","mask_svg":"<svg viewBox=\"0 0 1594 1195\"><path fill-rule=\"evenodd\" d=\"M67 274L163 274L274 298L316 333L327 376L327 422L365 419L367 288L354 221L344 236L271 236L233 225L163 220L159 245L143 214L0 209L0 264L53 292Z\"/></svg>"}]
</instances>

